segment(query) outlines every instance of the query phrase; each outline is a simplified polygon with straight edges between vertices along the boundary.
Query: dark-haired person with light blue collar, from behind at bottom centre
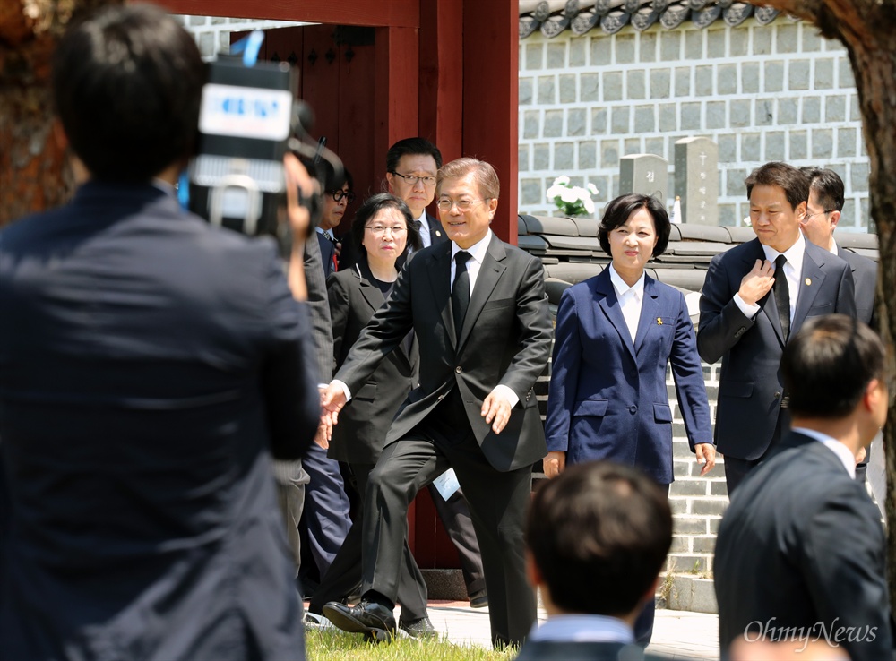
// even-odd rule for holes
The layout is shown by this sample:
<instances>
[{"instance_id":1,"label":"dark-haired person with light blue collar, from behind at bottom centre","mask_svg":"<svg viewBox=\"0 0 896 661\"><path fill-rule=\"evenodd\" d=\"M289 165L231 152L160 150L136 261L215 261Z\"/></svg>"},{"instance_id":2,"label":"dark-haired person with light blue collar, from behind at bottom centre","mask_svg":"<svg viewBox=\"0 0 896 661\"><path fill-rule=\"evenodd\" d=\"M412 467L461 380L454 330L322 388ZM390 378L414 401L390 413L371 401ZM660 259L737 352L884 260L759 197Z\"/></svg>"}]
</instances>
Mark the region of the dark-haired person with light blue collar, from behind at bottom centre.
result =
<instances>
[{"instance_id":1,"label":"dark-haired person with light blue collar, from behind at bottom centre","mask_svg":"<svg viewBox=\"0 0 896 661\"><path fill-rule=\"evenodd\" d=\"M633 627L670 545L665 489L639 468L590 461L542 485L529 511L526 567L547 622L517 661L643 658Z\"/></svg>"}]
</instances>

